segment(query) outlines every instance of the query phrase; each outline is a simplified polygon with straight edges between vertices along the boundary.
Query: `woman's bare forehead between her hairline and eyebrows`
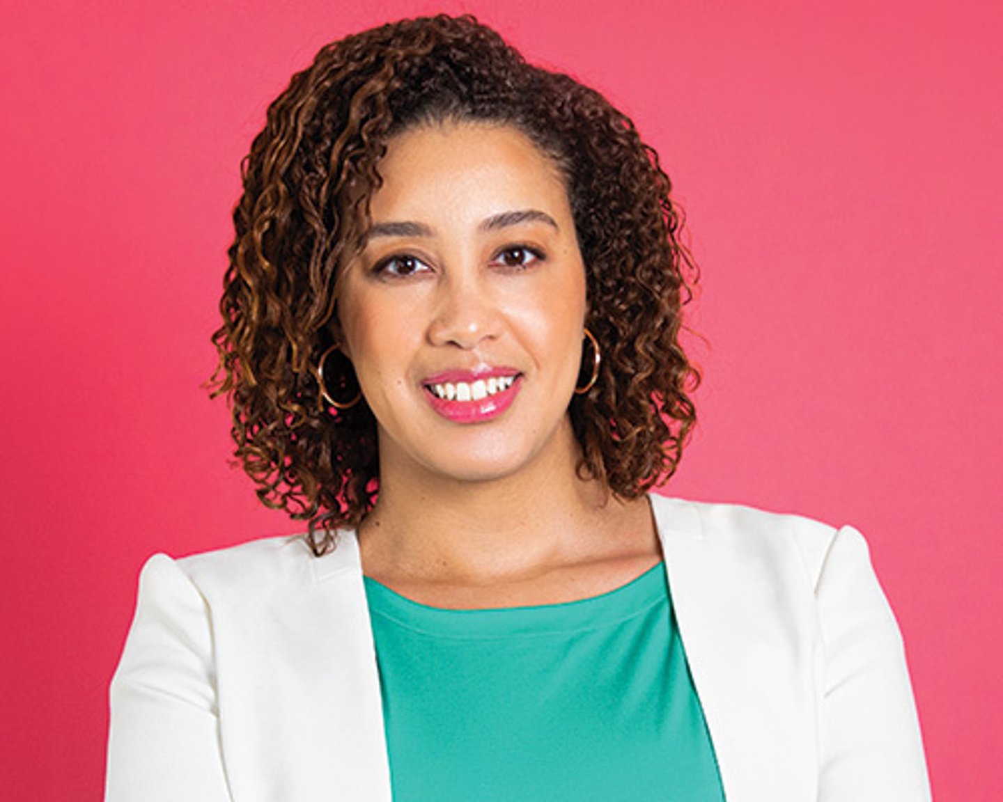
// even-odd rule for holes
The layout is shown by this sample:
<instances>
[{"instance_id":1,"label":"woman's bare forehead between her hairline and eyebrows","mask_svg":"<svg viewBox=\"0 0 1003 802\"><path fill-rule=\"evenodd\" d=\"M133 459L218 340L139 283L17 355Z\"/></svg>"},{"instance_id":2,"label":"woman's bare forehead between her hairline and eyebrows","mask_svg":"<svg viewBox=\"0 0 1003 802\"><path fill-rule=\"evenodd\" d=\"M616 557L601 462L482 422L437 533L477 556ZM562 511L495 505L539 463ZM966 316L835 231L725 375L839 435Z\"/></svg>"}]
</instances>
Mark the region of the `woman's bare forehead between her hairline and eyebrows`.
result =
<instances>
[{"instance_id":1,"label":"woman's bare forehead between her hairline and eyebrows","mask_svg":"<svg viewBox=\"0 0 1003 802\"><path fill-rule=\"evenodd\" d=\"M511 125L444 122L411 128L390 139L379 173L383 182L370 202L374 221L434 215L450 202L475 205L479 212L530 204L570 214L557 163Z\"/></svg>"}]
</instances>

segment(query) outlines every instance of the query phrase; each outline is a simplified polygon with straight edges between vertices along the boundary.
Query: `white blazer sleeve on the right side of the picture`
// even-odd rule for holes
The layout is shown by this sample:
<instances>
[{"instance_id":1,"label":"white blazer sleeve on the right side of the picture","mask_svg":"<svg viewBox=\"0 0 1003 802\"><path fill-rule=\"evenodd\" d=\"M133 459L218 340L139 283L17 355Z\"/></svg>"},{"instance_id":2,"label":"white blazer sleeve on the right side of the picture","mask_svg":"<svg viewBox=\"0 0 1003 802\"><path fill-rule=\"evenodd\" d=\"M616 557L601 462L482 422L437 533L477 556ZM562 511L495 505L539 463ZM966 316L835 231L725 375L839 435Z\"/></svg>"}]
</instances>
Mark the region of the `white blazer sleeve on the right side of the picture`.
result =
<instances>
[{"instance_id":1,"label":"white blazer sleeve on the right side of the picture","mask_svg":"<svg viewBox=\"0 0 1003 802\"><path fill-rule=\"evenodd\" d=\"M856 529L834 535L815 595L823 653L819 802L929 800L902 638Z\"/></svg>"}]
</instances>

